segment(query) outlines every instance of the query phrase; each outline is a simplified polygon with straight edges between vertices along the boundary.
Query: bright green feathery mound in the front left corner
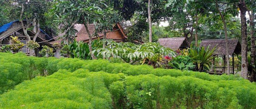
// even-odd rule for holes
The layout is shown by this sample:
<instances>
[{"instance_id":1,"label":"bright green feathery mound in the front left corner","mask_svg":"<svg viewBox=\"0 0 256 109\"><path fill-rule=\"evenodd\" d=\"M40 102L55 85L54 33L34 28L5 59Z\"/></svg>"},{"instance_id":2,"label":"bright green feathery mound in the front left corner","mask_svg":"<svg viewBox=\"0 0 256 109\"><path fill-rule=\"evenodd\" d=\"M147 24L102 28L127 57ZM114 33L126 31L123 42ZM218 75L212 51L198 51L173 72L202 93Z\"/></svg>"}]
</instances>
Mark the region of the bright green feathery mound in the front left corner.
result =
<instances>
[{"instance_id":1,"label":"bright green feathery mound in the front left corner","mask_svg":"<svg viewBox=\"0 0 256 109\"><path fill-rule=\"evenodd\" d=\"M100 77L81 78L65 70L48 77L25 81L17 85L15 90L1 95L0 101L1 109L111 109L112 107L110 93Z\"/></svg>"}]
</instances>

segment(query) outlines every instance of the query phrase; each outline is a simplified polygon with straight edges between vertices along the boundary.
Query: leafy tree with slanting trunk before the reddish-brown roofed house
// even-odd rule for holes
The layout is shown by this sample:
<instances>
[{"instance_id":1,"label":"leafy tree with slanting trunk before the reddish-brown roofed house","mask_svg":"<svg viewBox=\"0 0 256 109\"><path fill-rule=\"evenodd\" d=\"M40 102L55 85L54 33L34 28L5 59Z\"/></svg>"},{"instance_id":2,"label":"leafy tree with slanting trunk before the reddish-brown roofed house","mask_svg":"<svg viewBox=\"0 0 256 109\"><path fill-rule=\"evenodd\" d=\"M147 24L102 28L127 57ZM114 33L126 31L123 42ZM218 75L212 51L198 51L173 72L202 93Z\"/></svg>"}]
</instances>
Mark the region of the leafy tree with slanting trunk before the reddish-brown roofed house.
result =
<instances>
[{"instance_id":1,"label":"leafy tree with slanting trunk before the reddish-brown roofed house","mask_svg":"<svg viewBox=\"0 0 256 109\"><path fill-rule=\"evenodd\" d=\"M96 59L96 57L91 52L93 50L91 46L92 38L106 28L113 28L105 20L105 17L109 17L109 12L113 11L113 5L106 5L110 2L109 0L56 0L56 4L53 6L52 11L57 15L57 21L61 24L68 25L65 30L72 26L71 24L73 22L84 24L89 37L88 45L90 55L93 59ZM90 33L88 28L92 24L95 26L95 33L93 34ZM105 24L108 24L108 26ZM100 29L100 27L104 27L104 29ZM74 36L75 32L77 32L74 29L70 29L67 33L71 33L70 31L73 31L70 34L71 36ZM67 37L70 38L70 36Z\"/></svg>"}]
</instances>

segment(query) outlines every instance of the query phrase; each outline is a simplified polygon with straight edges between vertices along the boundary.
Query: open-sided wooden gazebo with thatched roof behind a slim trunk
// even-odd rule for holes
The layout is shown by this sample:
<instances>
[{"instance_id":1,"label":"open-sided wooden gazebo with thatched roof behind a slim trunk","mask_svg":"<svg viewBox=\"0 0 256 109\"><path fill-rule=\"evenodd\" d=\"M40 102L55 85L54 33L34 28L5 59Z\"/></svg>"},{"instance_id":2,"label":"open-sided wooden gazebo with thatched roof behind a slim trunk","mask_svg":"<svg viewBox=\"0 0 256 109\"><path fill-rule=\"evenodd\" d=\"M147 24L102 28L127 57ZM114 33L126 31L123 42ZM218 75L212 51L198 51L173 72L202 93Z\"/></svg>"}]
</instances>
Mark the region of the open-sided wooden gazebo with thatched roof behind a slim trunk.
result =
<instances>
[{"instance_id":1,"label":"open-sided wooden gazebo with thatched roof behind a slim trunk","mask_svg":"<svg viewBox=\"0 0 256 109\"><path fill-rule=\"evenodd\" d=\"M212 72L214 74L223 74L226 72L226 42L224 39L219 40L202 40L201 45L204 47L208 47L209 49L215 48L215 51L213 53L214 56L222 56L223 57L223 67L215 67L213 68ZM229 56L232 56L232 72L234 74L234 54L240 54L241 53L241 44L237 39L229 39L228 40L228 54ZM229 57L228 56L228 57ZM215 61L213 59L213 65L215 64ZM215 68L222 68L222 71L217 71ZM231 71L231 70L230 70Z\"/></svg>"}]
</instances>

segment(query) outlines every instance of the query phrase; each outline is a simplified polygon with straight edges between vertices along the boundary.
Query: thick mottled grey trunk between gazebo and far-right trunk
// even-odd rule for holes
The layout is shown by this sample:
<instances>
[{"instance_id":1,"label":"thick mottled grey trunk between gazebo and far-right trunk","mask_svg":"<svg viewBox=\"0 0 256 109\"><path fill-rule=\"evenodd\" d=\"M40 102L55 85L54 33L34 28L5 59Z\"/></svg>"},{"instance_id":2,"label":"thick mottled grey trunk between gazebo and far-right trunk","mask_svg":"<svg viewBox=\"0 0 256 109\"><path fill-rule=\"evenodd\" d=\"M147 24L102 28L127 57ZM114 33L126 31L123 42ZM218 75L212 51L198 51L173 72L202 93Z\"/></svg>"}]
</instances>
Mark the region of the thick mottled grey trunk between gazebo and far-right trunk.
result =
<instances>
[{"instance_id":1,"label":"thick mottled grey trunk between gazebo and far-right trunk","mask_svg":"<svg viewBox=\"0 0 256 109\"><path fill-rule=\"evenodd\" d=\"M246 6L244 0L239 0L240 18L241 18L241 37L242 37L242 65L241 65L241 76L245 79L248 78L248 60L247 60L247 24L246 24Z\"/></svg>"}]
</instances>

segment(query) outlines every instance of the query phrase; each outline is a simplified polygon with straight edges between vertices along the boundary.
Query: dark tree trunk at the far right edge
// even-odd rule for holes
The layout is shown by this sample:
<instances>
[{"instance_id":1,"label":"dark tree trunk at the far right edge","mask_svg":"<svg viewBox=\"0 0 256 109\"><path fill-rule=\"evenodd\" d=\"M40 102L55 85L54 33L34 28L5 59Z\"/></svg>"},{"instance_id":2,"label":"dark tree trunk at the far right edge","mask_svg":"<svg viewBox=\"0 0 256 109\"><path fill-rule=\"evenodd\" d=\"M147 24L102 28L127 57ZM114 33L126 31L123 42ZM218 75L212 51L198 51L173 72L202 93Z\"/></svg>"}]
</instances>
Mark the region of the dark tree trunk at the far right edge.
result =
<instances>
[{"instance_id":1,"label":"dark tree trunk at the far right edge","mask_svg":"<svg viewBox=\"0 0 256 109\"><path fill-rule=\"evenodd\" d=\"M255 15L254 15L253 11L251 11L251 12L252 13L250 13L250 11L248 11L248 14L250 16L250 30L251 30L251 32L250 32L250 34L251 34L251 64L253 65L254 62L255 62L255 54L256 54L256 51L255 51L255 35L254 35L254 33L255 33L255 30L254 30L254 26L255 26L255 24L254 24L254 20L255 20L254 17L255 17ZM252 70L252 74L251 74L251 77L249 78L249 80L251 82L256 81L256 77L255 76L256 76L256 74Z\"/></svg>"}]
</instances>

